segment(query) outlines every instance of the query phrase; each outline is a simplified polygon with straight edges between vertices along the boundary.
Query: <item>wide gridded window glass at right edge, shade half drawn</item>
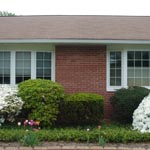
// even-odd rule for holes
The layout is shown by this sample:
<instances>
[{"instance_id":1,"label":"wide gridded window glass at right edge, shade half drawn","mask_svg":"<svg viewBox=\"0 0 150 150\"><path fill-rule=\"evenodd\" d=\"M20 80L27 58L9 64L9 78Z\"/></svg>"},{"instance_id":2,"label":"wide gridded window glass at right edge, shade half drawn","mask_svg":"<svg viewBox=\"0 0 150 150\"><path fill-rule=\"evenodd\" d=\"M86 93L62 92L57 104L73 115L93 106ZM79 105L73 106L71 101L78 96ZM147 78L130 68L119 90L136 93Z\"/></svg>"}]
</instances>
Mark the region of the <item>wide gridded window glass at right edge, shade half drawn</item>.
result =
<instances>
[{"instance_id":1,"label":"wide gridded window glass at right edge, shade half drawn","mask_svg":"<svg viewBox=\"0 0 150 150\"><path fill-rule=\"evenodd\" d=\"M128 86L149 86L149 56L149 51L128 52Z\"/></svg>"}]
</instances>

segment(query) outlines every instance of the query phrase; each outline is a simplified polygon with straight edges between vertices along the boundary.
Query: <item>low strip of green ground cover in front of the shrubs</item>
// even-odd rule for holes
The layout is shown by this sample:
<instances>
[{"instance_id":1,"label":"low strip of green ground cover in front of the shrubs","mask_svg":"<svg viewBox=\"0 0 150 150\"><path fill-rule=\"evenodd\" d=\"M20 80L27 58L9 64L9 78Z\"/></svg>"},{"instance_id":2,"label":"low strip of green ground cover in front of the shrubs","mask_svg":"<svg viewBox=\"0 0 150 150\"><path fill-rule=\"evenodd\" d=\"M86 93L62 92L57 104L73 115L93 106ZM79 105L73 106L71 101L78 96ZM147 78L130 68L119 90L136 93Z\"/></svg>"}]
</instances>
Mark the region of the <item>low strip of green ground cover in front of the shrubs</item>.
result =
<instances>
[{"instance_id":1,"label":"low strip of green ground cover in front of the shrubs","mask_svg":"<svg viewBox=\"0 0 150 150\"><path fill-rule=\"evenodd\" d=\"M87 128L90 129L87 132ZM57 128L43 128L34 132L40 141L74 141L86 142L87 134L89 142L97 143L98 137L101 135L107 142L111 143L128 143L128 142L148 142L150 141L150 133L140 133L133 131L130 125L102 125L101 129L96 126L92 127L57 127ZM3 126L0 129L0 141L10 142L18 141L26 133L25 128L17 126Z\"/></svg>"}]
</instances>

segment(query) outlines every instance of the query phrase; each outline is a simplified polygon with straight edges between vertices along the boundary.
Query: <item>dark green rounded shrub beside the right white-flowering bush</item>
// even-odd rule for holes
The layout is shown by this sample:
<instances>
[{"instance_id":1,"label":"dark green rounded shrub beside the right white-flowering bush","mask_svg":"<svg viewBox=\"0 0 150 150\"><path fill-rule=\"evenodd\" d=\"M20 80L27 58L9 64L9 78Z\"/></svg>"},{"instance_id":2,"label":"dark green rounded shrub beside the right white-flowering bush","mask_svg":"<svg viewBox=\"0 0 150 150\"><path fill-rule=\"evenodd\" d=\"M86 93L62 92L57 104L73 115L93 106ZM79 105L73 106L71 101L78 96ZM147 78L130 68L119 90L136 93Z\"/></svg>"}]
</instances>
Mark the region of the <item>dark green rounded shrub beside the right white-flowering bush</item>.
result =
<instances>
[{"instance_id":1,"label":"dark green rounded shrub beside the right white-flowering bush","mask_svg":"<svg viewBox=\"0 0 150 150\"><path fill-rule=\"evenodd\" d=\"M129 87L120 89L110 98L113 106L113 118L121 123L131 123L134 110L149 90L144 87Z\"/></svg>"}]
</instances>

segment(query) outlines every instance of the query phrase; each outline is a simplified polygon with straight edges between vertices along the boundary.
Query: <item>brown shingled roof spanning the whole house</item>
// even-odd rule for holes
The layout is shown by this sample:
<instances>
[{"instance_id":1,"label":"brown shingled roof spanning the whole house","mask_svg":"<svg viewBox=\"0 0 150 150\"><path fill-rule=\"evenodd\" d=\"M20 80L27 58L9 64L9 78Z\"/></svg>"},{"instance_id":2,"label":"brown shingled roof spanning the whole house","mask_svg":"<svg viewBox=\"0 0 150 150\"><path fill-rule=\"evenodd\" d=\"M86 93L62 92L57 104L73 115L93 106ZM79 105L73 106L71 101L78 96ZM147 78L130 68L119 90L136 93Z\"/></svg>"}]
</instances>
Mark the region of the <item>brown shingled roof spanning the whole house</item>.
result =
<instances>
[{"instance_id":1,"label":"brown shingled roof spanning the whole house","mask_svg":"<svg viewBox=\"0 0 150 150\"><path fill-rule=\"evenodd\" d=\"M16 39L150 40L150 17L0 17L0 40Z\"/></svg>"}]
</instances>

